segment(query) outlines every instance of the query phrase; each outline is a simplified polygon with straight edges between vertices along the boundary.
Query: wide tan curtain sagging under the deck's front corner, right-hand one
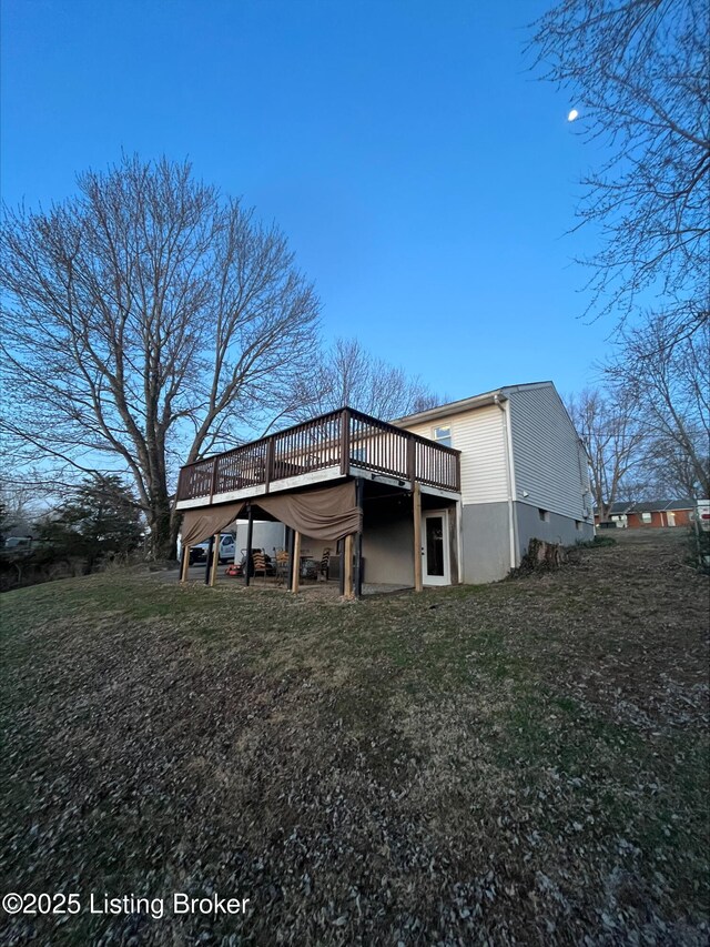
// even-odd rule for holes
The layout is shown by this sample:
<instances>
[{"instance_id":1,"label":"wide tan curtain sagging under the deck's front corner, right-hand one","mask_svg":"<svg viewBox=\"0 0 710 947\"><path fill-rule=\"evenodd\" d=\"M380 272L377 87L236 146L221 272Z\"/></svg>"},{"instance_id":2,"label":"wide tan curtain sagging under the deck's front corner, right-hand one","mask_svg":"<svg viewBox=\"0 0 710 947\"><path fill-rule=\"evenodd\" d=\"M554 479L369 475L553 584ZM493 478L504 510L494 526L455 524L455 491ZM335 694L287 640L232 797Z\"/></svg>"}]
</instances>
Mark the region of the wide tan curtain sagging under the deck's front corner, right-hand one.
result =
<instances>
[{"instance_id":1,"label":"wide tan curtain sagging under the deck's front corner, right-hand one","mask_svg":"<svg viewBox=\"0 0 710 947\"><path fill-rule=\"evenodd\" d=\"M335 542L356 533L363 525L361 510L355 505L353 481L307 493L260 496L252 505L314 540Z\"/></svg>"}]
</instances>

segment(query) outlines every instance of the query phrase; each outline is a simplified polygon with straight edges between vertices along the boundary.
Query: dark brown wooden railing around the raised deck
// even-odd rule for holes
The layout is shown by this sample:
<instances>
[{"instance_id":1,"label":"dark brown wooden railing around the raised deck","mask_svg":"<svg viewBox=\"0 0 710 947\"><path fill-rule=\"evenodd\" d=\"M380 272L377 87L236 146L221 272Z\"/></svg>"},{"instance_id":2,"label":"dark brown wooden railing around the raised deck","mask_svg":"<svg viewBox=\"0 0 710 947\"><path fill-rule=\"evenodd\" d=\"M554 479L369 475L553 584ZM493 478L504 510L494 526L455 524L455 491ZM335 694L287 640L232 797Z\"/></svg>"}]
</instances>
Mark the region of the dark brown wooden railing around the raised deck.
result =
<instances>
[{"instance_id":1,"label":"dark brown wooden railing around the raised deck","mask_svg":"<svg viewBox=\"0 0 710 947\"><path fill-rule=\"evenodd\" d=\"M403 431L359 411L342 407L270 434L180 471L178 501L231 493L250 486L339 466L404 481L460 490L459 452Z\"/></svg>"}]
</instances>

